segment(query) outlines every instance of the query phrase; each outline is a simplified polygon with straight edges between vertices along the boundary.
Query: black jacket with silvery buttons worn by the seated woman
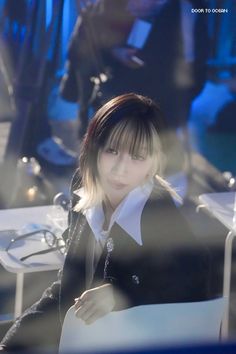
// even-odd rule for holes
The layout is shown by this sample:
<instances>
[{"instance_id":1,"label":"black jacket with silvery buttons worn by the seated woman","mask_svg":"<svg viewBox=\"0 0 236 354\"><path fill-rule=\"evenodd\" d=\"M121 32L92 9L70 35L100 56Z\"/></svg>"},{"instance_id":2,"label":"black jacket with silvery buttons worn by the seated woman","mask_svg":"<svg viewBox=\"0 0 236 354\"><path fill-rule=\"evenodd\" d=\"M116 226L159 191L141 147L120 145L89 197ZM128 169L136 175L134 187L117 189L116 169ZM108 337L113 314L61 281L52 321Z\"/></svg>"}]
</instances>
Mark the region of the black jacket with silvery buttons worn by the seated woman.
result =
<instances>
[{"instance_id":1,"label":"black jacket with silvery buttons worn by the seated woman","mask_svg":"<svg viewBox=\"0 0 236 354\"><path fill-rule=\"evenodd\" d=\"M208 254L197 242L167 192L153 192L142 217L143 246L114 224L97 265L92 287L112 283L125 307L208 298ZM60 277L8 331L8 349L59 343L61 324L74 298L85 288L85 251L90 232L86 218L70 212L69 249ZM116 292L115 292L116 294ZM114 310L124 307L116 298Z\"/></svg>"}]
</instances>

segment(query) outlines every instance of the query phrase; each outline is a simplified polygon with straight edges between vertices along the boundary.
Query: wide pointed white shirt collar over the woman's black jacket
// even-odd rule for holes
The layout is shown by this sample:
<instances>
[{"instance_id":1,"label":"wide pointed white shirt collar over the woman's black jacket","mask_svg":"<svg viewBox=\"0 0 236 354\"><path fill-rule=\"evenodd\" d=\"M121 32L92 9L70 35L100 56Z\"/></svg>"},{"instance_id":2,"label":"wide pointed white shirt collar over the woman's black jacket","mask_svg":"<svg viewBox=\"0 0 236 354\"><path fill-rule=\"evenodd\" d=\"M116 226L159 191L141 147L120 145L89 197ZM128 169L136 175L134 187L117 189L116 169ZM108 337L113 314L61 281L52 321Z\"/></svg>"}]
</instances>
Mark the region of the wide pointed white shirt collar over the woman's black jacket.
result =
<instances>
[{"instance_id":1,"label":"wide pointed white shirt collar over the woman's black jacket","mask_svg":"<svg viewBox=\"0 0 236 354\"><path fill-rule=\"evenodd\" d=\"M151 192L153 181L146 183L141 187L133 189L126 198L118 205L112 214L108 234L116 222L124 231L126 231L139 245L142 245L141 235L141 215ZM81 195L83 190L76 191ZM97 241L103 238L104 212L102 205L86 209L84 215L91 227ZM129 217L127 217L129 215Z\"/></svg>"}]
</instances>

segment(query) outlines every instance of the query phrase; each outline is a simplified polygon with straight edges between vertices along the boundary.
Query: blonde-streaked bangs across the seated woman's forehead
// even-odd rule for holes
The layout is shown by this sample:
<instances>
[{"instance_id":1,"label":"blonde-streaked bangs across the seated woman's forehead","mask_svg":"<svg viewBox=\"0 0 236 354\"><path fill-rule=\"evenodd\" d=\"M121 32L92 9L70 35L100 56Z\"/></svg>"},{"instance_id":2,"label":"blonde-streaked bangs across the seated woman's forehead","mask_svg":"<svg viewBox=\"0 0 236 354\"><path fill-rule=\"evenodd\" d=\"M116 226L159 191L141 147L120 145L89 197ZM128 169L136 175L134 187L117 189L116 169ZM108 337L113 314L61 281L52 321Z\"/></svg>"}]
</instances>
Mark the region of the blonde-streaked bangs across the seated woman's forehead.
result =
<instances>
[{"instance_id":1,"label":"blonde-streaked bangs across the seated woman's forehead","mask_svg":"<svg viewBox=\"0 0 236 354\"><path fill-rule=\"evenodd\" d=\"M158 140L154 127L136 120L123 120L109 134L105 146L115 150L126 150L130 155L153 155L155 140Z\"/></svg>"}]
</instances>

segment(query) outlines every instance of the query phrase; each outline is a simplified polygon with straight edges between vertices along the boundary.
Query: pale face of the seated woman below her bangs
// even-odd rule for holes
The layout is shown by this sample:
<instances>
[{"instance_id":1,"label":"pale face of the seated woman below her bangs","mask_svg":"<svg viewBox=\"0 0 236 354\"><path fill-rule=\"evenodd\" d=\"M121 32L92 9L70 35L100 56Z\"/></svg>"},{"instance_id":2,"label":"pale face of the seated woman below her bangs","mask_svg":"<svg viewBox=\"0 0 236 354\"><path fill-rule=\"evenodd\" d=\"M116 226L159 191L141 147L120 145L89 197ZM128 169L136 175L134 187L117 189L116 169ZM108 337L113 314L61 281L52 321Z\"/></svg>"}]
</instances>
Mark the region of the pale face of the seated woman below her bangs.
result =
<instances>
[{"instance_id":1,"label":"pale face of the seated woman below her bangs","mask_svg":"<svg viewBox=\"0 0 236 354\"><path fill-rule=\"evenodd\" d=\"M147 155L145 147L137 156L130 155L125 149L115 150L110 146L100 151L99 179L112 207L117 207L131 190L146 182L153 165L154 159Z\"/></svg>"}]
</instances>

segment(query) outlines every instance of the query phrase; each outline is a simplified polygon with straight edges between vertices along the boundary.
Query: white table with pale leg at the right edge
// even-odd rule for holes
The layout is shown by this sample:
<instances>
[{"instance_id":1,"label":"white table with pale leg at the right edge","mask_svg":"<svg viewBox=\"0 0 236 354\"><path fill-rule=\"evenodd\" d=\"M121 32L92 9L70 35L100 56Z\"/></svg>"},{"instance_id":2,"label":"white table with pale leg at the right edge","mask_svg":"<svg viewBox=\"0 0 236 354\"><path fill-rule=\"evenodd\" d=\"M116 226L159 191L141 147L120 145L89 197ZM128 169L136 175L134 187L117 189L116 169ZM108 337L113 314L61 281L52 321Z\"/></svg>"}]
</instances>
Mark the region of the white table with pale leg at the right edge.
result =
<instances>
[{"instance_id":1,"label":"white table with pale leg at the right edge","mask_svg":"<svg viewBox=\"0 0 236 354\"><path fill-rule=\"evenodd\" d=\"M199 196L199 200L200 203L229 230L225 239L223 279L223 296L227 298L227 303L222 325L222 334L224 337L227 337L229 326L232 244L236 236L236 193L222 192L202 194Z\"/></svg>"}]
</instances>

